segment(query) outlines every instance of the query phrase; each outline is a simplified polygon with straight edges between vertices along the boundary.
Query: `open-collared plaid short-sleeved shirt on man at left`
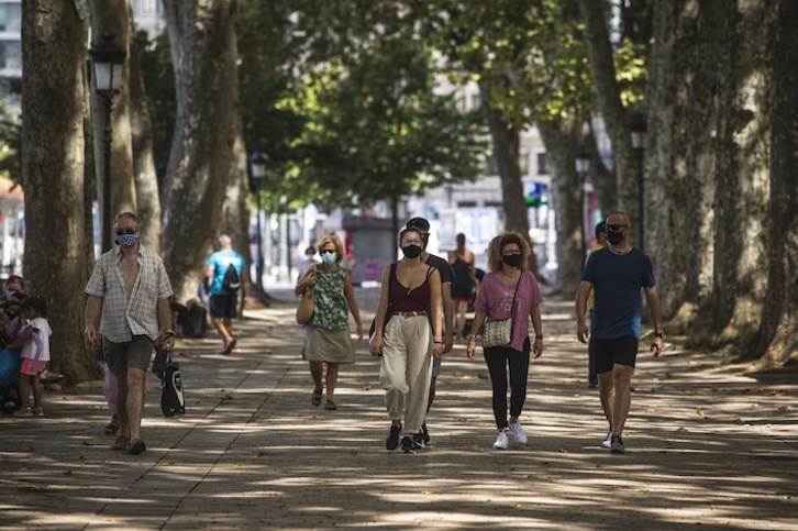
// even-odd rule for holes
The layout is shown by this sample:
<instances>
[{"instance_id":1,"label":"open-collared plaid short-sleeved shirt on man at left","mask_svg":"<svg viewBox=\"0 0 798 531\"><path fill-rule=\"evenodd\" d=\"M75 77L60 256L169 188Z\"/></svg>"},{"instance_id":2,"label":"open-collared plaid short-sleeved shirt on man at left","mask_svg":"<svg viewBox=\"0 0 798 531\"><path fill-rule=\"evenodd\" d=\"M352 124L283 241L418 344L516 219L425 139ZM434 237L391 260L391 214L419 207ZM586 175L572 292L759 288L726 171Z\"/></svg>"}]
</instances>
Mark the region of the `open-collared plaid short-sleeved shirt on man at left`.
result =
<instances>
[{"instance_id":1,"label":"open-collared plaid short-sleeved shirt on man at left","mask_svg":"<svg viewBox=\"0 0 798 531\"><path fill-rule=\"evenodd\" d=\"M158 339L158 300L171 296L171 283L164 262L155 252L138 245L138 276L133 292L124 290L119 262L119 245L103 253L86 285L86 294L102 297L100 333L114 343L131 341L134 335Z\"/></svg>"}]
</instances>

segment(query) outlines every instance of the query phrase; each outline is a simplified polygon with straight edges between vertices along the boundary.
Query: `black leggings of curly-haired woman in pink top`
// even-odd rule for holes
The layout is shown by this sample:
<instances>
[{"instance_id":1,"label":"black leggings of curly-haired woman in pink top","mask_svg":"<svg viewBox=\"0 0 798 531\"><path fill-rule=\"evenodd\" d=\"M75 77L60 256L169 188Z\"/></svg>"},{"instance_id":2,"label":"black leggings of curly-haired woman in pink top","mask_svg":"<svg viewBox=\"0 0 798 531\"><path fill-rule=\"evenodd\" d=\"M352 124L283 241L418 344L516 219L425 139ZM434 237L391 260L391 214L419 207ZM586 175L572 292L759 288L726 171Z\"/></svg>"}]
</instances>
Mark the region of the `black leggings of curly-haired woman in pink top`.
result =
<instances>
[{"instance_id":1,"label":"black leggings of curly-haired woman in pink top","mask_svg":"<svg viewBox=\"0 0 798 531\"><path fill-rule=\"evenodd\" d=\"M494 417L496 428L507 428L507 366L510 366L510 417L519 418L527 400L527 378L529 376L529 338L523 351L509 346L491 346L484 350L488 364L490 383L494 386Z\"/></svg>"}]
</instances>

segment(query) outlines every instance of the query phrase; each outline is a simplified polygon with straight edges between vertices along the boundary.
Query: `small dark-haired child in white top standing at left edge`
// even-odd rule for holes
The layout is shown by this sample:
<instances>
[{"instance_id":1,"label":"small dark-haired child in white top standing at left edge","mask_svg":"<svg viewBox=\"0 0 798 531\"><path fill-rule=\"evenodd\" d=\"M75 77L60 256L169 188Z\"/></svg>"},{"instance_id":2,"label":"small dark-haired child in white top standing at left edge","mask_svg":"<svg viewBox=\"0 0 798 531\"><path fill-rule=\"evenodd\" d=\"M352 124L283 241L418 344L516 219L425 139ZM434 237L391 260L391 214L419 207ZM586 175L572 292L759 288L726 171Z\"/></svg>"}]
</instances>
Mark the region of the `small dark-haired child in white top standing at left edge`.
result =
<instances>
[{"instance_id":1,"label":"small dark-haired child in white top standing at left edge","mask_svg":"<svg viewBox=\"0 0 798 531\"><path fill-rule=\"evenodd\" d=\"M29 320L20 330L9 349L22 347L22 368L20 369L20 395L22 407L16 417L44 417L42 397L44 395L38 375L49 362L49 336L53 331L47 322L47 302L42 297L27 297L20 305L20 312ZM33 409L31 409L33 389Z\"/></svg>"}]
</instances>

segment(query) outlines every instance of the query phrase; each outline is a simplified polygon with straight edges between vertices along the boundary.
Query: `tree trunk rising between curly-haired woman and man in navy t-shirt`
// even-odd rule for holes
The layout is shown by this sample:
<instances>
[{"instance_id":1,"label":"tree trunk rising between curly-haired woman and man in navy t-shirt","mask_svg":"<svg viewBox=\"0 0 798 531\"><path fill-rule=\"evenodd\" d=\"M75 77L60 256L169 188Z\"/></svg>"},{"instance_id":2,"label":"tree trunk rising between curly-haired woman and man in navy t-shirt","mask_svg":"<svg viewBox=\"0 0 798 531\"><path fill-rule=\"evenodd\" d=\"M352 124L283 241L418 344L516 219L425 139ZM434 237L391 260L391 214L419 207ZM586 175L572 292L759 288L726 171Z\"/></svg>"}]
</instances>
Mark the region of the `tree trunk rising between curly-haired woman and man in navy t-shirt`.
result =
<instances>
[{"instance_id":1,"label":"tree trunk rising between curly-haired woman and man in navy t-shirt","mask_svg":"<svg viewBox=\"0 0 798 531\"><path fill-rule=\"evenodd\" d=\"M580 137L581 120L541 122L537 130L546 146L552 167L552 191L557 225L557 280L565 292L576 292L585 261L587 235L584 195L574 159Z\"/></svg>"}]
</instances>

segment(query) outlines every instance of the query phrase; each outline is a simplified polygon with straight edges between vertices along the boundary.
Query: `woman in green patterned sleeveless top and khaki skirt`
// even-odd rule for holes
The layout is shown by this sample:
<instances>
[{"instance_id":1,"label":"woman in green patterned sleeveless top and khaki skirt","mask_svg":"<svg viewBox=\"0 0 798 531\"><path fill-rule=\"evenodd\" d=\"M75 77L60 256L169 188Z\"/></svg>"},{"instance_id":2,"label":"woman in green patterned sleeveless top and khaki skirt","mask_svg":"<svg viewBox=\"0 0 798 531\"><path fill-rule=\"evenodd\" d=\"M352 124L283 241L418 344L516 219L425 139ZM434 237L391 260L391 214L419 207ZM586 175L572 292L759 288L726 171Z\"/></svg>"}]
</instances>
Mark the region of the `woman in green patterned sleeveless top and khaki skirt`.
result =
<instances>
[{"instance_id":1,"label":"woman in green patterned sleeveless top and khaki skirt","mask_svg":"<svg viewBox=\"0 0 798 531\"><path fill-rule=\"evenodd\" d=\"M312 247L311 247L312 248ZM363 339L361 310L355 300L350 272L343 268L344 245L337 236L326 236L319 244L321 265L311 266L299 279L293 292L300 295L313 287L313 317L306 327L302 356L310 365L313 378L313 406L321 403L324 386L322 377L326 365L326 396L324 409L335 410L335 386L342 364L355 363L355 346L350 335L347 311L352 312L357 327L357 339Z\"/></svg>"}]
</instances>

